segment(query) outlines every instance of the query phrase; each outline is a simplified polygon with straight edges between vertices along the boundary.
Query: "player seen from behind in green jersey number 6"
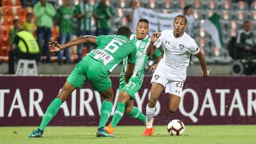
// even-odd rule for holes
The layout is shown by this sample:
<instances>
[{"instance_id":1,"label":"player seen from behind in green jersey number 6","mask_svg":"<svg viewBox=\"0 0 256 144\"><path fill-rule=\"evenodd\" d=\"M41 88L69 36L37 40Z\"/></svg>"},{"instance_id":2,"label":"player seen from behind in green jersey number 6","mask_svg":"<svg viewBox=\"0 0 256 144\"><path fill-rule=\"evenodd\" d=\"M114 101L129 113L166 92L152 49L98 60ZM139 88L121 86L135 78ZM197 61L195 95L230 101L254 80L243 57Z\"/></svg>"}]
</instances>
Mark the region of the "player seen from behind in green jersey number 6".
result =
<instances>
[{"instance_id":1,"label":"player seen from behind in green jersey number 6","mask_svg":"<svg viewBox=\"0 0 256 144\"><path fill-rule=\"evenodd\" d=\"M47 108L41 125L29 134L29 138L42 137L46 125L58 113L61 104L67 100L76 88L81 88L87 80L91 82L93 90L98 91L103 99L97 137L113 137L104 130L113 108L113 90L109 74L119 62L127 57L124 81L128 82L132 76L137 47L129 39L130 36L129 28L120 27L117 30L117 35L82 36L64 45L54 41L50 42L51 52L58 52L66 47L82 43L90 43L96 48L76 65L57 98Z\"/></svg>"}]
</instances>

